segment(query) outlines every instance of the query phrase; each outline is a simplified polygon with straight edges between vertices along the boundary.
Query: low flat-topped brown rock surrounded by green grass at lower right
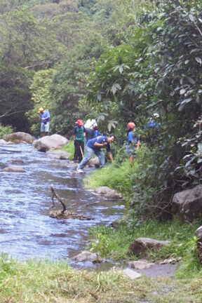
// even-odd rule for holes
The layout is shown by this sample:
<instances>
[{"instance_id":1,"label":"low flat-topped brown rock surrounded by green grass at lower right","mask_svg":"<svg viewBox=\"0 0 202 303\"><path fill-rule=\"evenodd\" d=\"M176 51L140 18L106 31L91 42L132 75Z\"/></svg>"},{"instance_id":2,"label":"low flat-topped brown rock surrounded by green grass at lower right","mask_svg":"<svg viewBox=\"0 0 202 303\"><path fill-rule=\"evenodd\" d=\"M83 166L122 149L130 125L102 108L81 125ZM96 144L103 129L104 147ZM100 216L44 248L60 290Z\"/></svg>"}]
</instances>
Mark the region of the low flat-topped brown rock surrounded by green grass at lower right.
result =
<instances>
[{"instance_id":1,"label":"low flat-topped brown rock surrounded by green grass at lower right","mask_svg":"<svg viewBox=\"0 0 202 303\"><path fill-rule=\"evenodd\" d=\"M147 250L159 250L163 246L169 245L170 241L160 241L152 238L137 238L129 248L129 253L137 256L144 255Z\"/></svg>"}]
</instances>

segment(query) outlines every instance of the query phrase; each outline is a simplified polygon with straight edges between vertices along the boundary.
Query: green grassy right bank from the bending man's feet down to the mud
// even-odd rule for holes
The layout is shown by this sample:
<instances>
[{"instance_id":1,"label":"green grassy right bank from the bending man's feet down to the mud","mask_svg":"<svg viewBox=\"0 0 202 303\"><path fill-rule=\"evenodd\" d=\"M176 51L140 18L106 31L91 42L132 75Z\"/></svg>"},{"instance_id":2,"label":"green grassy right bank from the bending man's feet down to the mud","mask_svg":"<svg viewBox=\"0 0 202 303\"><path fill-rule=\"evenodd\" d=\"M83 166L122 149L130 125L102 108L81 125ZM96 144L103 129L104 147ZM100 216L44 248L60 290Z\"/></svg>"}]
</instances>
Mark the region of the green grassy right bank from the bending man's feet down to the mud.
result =
<instances>
[{"instance_id":1,"label":"green grassy right bank from the bending man's feet down to the mud","mask_svg":"<svg viewBox=\"0 0 202 303\"><path fill-rule=\"evenodd\" d=\"M146 216L147 220L142 221L136 213L136 210L145 208L144 203L147 204L146 199L149 198L150 181L148 175L144 177L147 174L144 168L149 167L149 161L148 149L143 147L137 153L137 158L132 166L128 160L120 164L116 162L102 170L95 170L84 181L86 186L91 188L105 185L117 189L123 194L127 205L134 199L134 191L140 189L140 192L143 192L142 196L137 196L139 200L137 199L138 201L135 202L126 222L121 222L117 229L103 226L91 229L91 250L99 252L102 257L128 260L135 259L134 255L128 255L128 248L135 238L168 240L170 245L159 251L150 251L147 258L158 261L169 257L182 257L182 266L177 274L182 277L193 276L201 270L195 253L196 238L194 238L194 234L202 222L189 224L179 220L148 220L148 216ZM139 188L138 182L140 183Z\"/></svg>"}]
</instances>

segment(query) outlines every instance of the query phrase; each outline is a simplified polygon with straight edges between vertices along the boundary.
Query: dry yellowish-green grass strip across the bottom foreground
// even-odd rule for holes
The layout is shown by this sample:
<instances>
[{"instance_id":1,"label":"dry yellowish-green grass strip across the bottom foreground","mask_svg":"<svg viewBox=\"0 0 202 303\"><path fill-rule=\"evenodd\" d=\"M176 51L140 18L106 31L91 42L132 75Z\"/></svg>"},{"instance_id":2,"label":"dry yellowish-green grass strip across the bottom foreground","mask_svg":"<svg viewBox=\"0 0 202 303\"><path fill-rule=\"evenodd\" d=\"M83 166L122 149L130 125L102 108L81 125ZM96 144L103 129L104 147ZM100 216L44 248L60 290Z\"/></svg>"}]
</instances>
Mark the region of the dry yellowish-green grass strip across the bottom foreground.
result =
<instances>
[{"instance_id":1,"label":"dry yellowish-green grass strip across the bottom foreground","mask_svg":"<svg viewBox=\"0 0 202 303\"><path fill-rule=\"evenodd\" d=\"M75 271L65 262L18 263L0 258L1 303L199 303L202 279L140 278L121 271Z\"/></svg>"}]
</instances>

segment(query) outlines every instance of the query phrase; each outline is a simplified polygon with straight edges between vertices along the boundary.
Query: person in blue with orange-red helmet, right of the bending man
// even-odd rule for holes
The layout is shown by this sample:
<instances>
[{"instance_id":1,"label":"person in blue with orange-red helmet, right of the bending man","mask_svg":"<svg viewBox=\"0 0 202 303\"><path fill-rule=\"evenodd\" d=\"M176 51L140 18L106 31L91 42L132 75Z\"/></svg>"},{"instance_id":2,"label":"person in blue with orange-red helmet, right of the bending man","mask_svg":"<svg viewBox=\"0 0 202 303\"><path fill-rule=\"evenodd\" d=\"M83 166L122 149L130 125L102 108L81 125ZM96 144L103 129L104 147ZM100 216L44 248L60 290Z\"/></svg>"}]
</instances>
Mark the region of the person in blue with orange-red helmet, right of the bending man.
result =
<instances>
[{"instance_id":1,"label":"person in blue with orange-red helmet, right of the bending man","mask_svg":"<svg viewBox=\"0 0 202 303\"><path fill-rule=\"evenodd\" d=\"M127 130L126 152L129 155L130 163L133 163L135 151L140 147L140 136L135 133L134 122L129 122L127 124Z\"/></svg>"}]
</instances>

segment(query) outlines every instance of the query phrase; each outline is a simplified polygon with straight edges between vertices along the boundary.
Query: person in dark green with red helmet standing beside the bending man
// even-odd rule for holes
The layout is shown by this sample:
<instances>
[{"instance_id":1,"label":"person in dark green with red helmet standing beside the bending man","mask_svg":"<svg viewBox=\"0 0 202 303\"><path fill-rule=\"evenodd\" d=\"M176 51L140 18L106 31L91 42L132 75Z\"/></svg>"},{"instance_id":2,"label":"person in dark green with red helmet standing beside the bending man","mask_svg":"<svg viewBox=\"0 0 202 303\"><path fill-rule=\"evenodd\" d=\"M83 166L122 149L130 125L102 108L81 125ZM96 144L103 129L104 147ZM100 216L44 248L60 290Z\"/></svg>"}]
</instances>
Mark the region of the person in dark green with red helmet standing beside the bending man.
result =
<instances>
[{"instance_id":1,"label":"person in dark green with red helmet standing beside the bending man","mask_svg":"<svg viewBox=\"0 0 202 303\"><path fill-rule=\"evenodd\" d=\"M81 162L83 159L85 132L83 121L78 119L74 127L74 162Z\"/></svg>"}]
</instances>

